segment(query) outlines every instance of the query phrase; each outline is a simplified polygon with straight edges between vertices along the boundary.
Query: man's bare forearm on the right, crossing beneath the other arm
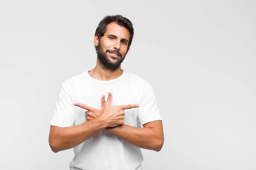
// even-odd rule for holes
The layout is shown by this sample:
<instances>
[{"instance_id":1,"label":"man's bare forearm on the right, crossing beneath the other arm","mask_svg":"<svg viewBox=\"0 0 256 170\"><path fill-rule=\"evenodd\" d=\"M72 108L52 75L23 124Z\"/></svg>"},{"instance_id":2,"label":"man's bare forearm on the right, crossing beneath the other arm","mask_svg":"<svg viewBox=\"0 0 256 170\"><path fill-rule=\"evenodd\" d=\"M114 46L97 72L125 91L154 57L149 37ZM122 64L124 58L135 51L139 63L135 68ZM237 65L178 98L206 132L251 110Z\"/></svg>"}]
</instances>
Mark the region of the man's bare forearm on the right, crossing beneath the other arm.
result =
<instances>
[{"instance_id":1,"label":"man's bare forearm on the right, crossing beneath the other arm","mask_svg":"<svg viewBox=\"0 0 256 170\"><path fill-rule=\"evenodd\" d=\"M159 152L163 147L163 125L161 120L148 122L144 128L120 125L105 129L134 146Z\"/></svg>"}]
</instances>

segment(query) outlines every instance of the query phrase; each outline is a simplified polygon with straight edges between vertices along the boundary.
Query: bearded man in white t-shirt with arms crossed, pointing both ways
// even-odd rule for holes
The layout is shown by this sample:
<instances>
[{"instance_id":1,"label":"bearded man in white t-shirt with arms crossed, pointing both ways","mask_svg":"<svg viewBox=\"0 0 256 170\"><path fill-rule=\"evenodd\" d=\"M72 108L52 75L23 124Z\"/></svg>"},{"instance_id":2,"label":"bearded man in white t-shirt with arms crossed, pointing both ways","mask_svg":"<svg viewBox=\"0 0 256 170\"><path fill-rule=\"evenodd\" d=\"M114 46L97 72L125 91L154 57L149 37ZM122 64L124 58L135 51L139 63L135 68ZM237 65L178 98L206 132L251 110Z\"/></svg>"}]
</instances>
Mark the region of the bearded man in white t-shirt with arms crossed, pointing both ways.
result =
<instances>
[{"instance_id":1,"label":"bearded man in white t-shirt with arms crossed, pointing both ways","mask_svg":"<svg viewBox=\"0 0 256 170\"><path fill-rule=\"evenodd\" d=\"M106 16L94 37L96 67L61 85L49 144L55 153L73 148L70 170L141 170L140 148L163 146L151 85L121 69L133 35L130 20Z\"/></svg>"}]
</instances>

